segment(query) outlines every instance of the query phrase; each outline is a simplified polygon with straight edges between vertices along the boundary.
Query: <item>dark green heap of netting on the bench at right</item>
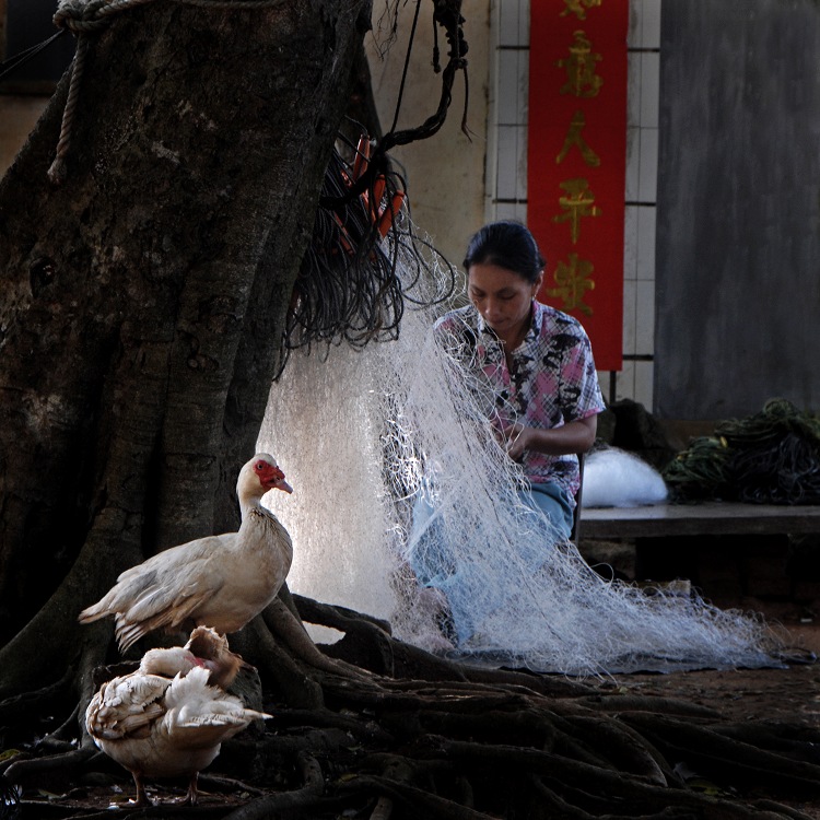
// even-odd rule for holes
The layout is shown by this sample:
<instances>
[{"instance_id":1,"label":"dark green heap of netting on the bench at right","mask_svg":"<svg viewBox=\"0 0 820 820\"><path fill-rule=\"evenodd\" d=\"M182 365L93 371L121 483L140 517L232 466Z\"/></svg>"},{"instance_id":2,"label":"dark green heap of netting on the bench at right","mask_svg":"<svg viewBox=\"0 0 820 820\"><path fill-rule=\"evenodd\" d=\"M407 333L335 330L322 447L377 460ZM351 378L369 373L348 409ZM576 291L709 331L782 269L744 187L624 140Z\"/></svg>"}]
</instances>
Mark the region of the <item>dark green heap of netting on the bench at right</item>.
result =
<instances>
[{"instance_id":1,"label":"dark green heap of netting on the bench at right","mask_svg":"<svg viewBox=\"0 0 820 820\"><path fill-rule=\"evenodd\" d=\"M664 470L670 499L820 503L820 418L786 399L693 438Z\"/></svg>"}]
</instances>

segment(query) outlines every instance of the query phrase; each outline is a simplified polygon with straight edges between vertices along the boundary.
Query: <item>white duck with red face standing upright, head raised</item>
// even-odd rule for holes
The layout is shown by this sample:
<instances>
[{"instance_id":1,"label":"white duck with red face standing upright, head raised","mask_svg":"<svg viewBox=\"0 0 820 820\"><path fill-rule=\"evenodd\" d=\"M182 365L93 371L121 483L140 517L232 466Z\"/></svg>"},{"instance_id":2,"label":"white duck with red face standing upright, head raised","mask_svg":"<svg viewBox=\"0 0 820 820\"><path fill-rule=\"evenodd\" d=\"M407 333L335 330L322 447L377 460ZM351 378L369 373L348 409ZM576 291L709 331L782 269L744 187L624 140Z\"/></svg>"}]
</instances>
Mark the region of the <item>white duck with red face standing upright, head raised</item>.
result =
<instances>
[{"instance_id":1,"label":"white duck with red face standing upright, head raised","mask_svg":"<svg viewBox=\"0 0 820 820\"><path fill-rule=\"evenodd\" d=\"M293 492L273 458L257 453L236 481L238 532L188 541L126 570L80 622L113 614L121 652L157 629L242 629L277 596L293 560L288 530L260 503L272 489Z\"/></svg>"}]
</instances>

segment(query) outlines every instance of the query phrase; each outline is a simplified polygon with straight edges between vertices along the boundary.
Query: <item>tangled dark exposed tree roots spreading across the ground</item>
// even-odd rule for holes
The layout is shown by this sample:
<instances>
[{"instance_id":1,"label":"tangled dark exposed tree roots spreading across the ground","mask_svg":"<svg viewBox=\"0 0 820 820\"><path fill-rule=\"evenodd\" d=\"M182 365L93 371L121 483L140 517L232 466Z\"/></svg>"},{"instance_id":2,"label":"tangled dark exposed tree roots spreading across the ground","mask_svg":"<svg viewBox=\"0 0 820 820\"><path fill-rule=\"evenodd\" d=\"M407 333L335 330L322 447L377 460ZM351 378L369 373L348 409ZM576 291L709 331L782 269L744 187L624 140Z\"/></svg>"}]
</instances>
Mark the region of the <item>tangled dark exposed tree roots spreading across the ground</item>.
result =
<instances>
[{"instance_id":1,"label":"tangled dark exposed tree roots spreading across the ground","mask_svg":"<svg viewBox=\"0 0 820 820\"><path fill-rule=\"evenodd\" d=\"M294 610L341 628L343 646L306 641ZM211 798L215 805L184 809L188 818L806 820L770 798L820 796L815 727L731 724L686 701L456 665L396 641L376 619L286 595L235 639L258 667L273 718L263 734L226 742L212 765L247 803ZM67 691L82 689L71 679L1 702L0 717L65 705ZM4 780L27 797L55 778L118 771L79 729L79 748L46 754L67 748L71 725L69 711L49 743L7 764ZM690 787L680 764L707 778L711 793ZM60 817L103 817L90 808ZM129 816L177 811L163 805Z\"/></svg>"}]
</instances>

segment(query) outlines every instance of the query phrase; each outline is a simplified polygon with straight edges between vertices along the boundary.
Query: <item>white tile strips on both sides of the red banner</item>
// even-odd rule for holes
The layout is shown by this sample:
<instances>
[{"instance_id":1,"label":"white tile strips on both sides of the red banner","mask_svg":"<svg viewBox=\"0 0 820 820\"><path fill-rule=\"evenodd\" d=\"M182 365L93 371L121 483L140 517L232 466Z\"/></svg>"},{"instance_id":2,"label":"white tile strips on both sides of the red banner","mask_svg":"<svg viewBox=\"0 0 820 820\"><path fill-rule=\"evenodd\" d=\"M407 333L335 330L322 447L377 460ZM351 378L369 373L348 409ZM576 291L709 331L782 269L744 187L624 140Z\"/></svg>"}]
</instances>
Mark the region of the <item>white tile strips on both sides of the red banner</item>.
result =
<instances>
[{"instance_id":1,"label":"white tile strips on both sides of the red banner","mask_svg":"<svg viewBox=\"0 0 820 820\"><path fill-rule=\"evenodd\" d=\"M527 219L529 4L493 0L495 59L488 121L487 212ZM607 2L607 0L604 0ZM600 373L607 400L653 409L655 203L661 0L630 0L626 189L624 191L623 370Z\"/></svg>"}]
</instances>

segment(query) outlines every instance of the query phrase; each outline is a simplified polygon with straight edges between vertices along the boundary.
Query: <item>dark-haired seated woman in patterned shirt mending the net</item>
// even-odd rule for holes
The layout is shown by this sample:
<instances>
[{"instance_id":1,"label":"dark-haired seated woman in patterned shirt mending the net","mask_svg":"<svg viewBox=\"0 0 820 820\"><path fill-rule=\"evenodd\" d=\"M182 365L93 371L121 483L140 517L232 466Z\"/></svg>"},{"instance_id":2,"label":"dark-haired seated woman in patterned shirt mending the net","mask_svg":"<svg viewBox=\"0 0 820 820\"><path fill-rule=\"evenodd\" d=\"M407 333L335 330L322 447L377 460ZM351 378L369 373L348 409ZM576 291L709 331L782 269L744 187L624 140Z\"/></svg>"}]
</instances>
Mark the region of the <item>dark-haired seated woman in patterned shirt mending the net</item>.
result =
<instances>
[{"instance_id":1,"label":"dark-haired seated woman in patterned shirt mending the net","mask_svg":"<svg viewBox=\"0 0 820 820\"><path fill-rule=\"evenodd\" d=\"M524 225L485 225L464 260L471 304L442 317L435 335L489 386L492 424L529 483L525 503L549 517L558 538L569 538L579 485L576 454L595 442L605 405L583 327L536 300L544 263ZM437 515L426 500L417 503L409 560L422 586L435 590L430 595L448 599L456 616L448 637L458 643L472 628L454 599L469 587L469 567L447 554L445 539L434 549L423 543L436 539Z\"/></svg>"}]
</instances>

